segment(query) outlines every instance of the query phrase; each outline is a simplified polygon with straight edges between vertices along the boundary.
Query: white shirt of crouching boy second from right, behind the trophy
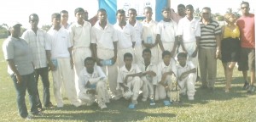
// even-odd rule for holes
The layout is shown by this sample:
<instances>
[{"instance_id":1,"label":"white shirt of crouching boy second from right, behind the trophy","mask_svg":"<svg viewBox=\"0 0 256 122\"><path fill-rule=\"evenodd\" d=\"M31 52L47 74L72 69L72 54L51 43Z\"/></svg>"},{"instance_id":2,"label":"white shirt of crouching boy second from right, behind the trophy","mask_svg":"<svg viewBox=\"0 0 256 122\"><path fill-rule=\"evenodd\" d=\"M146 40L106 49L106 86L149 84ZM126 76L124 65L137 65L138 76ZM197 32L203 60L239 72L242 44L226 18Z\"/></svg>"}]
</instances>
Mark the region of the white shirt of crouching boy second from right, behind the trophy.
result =
<instances>
[{"instance_id":1,"label":"white shirt of crouching boy second from right, behind the trophy","mask_svg":"<svg viewBox=\"0 0 256 122\"><path fill-rule=\"evenodd\" d=\"M171 62L169 65L166 65L163 61L160 62L160 64L158 64L158 66L157 66L158 82L162 79L162 75L164 73L169 72L171 70L174 72L174 74L176 74L175 73L175 71L176 71L175 65L172 65Z\"/></svg>"}]
</instances>

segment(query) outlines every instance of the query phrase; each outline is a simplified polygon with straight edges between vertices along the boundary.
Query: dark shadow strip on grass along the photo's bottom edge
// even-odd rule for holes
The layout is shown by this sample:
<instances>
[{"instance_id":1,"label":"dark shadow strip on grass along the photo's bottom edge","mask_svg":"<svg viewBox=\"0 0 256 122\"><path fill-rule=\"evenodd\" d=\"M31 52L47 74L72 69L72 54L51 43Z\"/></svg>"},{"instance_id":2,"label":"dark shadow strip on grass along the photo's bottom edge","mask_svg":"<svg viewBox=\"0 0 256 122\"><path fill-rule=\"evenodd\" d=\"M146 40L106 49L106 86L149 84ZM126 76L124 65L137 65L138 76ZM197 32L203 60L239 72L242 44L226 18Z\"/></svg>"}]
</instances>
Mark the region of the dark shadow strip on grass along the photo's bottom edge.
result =
<instances>
[{"instance_id":1,"label":"dark shadow strip on grass along the photo's bottom edge","mask_svg":"<svg viewBox=\"0 0 256 122\"><path fill-rule=\"evenodd\" d=\"M73 111L72 113L63 113L63 111L54 111L54 113L44 114L37 119L49 119L50 120L81 120L81 121L137 121L150 117L162 117L173 118L175 114L171 113L145 113L142 111L127 110L127 109L105 109L105 110L93 110L88 109Z\"/></svg>"}]
</instances>

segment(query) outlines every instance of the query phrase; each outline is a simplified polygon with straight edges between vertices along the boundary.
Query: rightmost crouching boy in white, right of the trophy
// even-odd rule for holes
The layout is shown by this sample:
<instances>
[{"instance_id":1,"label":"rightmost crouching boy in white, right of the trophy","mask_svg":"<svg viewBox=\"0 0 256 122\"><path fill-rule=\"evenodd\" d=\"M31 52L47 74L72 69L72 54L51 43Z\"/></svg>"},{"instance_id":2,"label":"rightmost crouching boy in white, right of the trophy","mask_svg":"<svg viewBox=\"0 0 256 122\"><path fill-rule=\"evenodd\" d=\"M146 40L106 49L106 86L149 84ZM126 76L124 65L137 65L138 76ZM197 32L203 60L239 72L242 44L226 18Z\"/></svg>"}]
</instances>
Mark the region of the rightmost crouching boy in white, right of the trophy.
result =
<instances>
[{"instance_id":1,"label":"rightmost crouching boy in white, right of the trophy","mask_svg":"<svg viewBox=\"0 0 256 122\"><path fill-rule=\"evenodd\" d=\"M194 100L195 95L195 65L187 61L186 53L177 54L177 83L180 86L180 93L188 95L189 100Z\"/></svg>"}]
</instances>

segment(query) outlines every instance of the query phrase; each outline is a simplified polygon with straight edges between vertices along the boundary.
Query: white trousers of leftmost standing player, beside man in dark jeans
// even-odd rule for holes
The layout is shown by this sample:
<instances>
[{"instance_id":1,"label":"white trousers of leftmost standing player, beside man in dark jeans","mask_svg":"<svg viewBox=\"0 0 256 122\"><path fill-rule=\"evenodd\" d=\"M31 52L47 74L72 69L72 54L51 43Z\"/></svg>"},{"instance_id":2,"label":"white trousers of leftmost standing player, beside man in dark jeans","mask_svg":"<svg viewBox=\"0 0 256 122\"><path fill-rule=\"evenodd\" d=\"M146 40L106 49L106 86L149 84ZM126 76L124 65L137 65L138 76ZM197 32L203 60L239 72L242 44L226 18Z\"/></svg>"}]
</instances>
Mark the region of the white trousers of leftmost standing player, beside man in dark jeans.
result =
<instances>
[{"instance_id":1,"label":"white trousers of leftmost standing player, beside man in dark jeans","mask_svg":"<svg viewBox=\"0 0 256 122\"><path fill-rule=\"evenodd\" d=\"M61 97L62 83L64 84L69 101L76 107L80 106L73 80L73 69L71 69L70 58L57 58L57 64L55 71L52 71L54 95L57 106L63 107Z\"/></svg>"}]
</instances>

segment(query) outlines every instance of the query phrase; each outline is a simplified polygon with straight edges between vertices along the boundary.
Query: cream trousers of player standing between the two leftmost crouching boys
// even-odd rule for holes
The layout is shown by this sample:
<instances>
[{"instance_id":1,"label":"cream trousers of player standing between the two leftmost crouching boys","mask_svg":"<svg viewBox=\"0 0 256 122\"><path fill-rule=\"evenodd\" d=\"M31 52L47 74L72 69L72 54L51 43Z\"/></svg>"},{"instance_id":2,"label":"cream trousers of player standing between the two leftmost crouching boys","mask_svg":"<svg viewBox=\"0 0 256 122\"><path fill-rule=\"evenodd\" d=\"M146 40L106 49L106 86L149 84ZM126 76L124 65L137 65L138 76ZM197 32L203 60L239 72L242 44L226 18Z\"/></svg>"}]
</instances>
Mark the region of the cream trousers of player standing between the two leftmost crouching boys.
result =
<instances>
[{"instance_id":1,"label":"cream trousers of player standing between the two leftmost crouching boys","mask_svg":"<svg viewBox=\"0 0 256 122\"><path fill-rule=\"evenodd\" d=\"M97 48L97 57L101 59L110 59L113 58L114 52L113 50ZM121 97L122 92L120 90L116 90L117 87L117 75L118 75L118 67L117 62L111 66L102 66L103 72L108 75L108 86L111 91L112 96Z\"/></svg>"}]
</instances>

